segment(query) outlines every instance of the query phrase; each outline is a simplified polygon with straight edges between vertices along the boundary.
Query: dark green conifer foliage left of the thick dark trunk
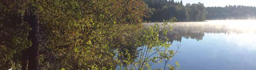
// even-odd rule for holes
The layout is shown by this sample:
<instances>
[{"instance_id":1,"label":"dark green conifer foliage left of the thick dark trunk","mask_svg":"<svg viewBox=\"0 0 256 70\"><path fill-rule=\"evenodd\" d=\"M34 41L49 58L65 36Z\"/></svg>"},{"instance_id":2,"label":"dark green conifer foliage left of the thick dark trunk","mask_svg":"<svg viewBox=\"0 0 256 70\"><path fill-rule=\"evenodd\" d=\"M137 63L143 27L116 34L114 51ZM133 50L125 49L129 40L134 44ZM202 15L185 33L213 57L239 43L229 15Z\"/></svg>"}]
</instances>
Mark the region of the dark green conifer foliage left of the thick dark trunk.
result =
<instances>
[{"instance_id":1,"label":"dark green conifer foliage left of the thick dark trunk","mask_svg":"<svg viewBox=\"0 0 256 70\"><path fill-rule=\"evenodd\" d=\"M22 50L31 46L29 23L23 22L28 1L0 1L0 68L21 67Z\"/></svg>"}]
</instances>

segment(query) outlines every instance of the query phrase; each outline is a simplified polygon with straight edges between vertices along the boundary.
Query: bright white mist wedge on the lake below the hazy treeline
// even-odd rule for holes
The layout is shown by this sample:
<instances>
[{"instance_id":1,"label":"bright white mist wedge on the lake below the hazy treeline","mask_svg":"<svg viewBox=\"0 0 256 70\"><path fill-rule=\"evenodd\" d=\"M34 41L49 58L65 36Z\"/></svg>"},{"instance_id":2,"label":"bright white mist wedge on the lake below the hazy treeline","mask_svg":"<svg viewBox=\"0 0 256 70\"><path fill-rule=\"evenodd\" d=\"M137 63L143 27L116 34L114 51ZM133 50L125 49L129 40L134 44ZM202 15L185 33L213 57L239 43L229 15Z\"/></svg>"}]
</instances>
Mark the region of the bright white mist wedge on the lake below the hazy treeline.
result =
<instances>
[{"instance_id":1,"label":"bright white mist wedge on the lake below the hazy treeline","mask_svg":"<svg viewBox=\"0 0 256 70\"><path fill-rule=\"evenodd\" d=\"M222 29L228 32L255 32L256 20L206 20L206 22L184 22L175 25L197 26L201 28ZM219 32L219 31L215 31Z\"/></svg>"}]
</instances>

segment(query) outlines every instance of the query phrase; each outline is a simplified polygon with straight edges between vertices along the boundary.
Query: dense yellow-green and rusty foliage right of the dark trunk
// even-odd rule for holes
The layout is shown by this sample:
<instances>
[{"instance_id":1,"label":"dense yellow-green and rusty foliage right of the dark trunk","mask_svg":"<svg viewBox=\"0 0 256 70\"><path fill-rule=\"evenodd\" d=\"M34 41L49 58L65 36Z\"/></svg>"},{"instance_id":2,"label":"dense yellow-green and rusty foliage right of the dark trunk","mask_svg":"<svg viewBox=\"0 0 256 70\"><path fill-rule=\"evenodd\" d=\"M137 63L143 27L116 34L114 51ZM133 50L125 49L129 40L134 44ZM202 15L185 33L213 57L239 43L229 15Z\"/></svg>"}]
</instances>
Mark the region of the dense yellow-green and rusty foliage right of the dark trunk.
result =
<instances>
[{"instance_id":1,"label":"dense yellow-green and rusty foliage right of the dark trunk","mask_svg":"<svg viewBox=\"0 0 256 70\"><path fill-rule=\"evenodd\" d=\"M136 42L145 11L143 1L43 0L39 5L43 7L40 22L47 30L42 34L45 37L42 46L47 47L42 50L51 52L43 55L44 59L58 58L59 63L65 63L61 64L65 68L115 68L114 64L121 63L121 60L115 59L116 48L141 46ZM120 55L126 57L124 62L127 64L134 59L130 52L123 50ZM47 60L41 61L46 65L43 67L49 67Z\"/></svg>"}]
</instances>

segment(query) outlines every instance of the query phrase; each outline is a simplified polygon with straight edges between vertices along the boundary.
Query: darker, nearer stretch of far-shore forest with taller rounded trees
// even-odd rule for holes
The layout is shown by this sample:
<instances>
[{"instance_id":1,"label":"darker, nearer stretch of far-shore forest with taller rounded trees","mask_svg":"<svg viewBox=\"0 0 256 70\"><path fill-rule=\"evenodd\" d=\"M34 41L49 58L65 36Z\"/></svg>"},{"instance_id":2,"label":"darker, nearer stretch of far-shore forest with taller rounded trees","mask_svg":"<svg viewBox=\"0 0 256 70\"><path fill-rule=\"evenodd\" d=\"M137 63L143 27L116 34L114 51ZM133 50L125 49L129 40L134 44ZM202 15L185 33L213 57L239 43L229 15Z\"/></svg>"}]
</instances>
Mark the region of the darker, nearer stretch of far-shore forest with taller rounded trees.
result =
<instances>
[{"instance_id":1,"label":"darker, nearer stretch of far-shore forest with taller rounded trees","mask_svg":"<svg viewBox=\"0 0 256 70\"><path fill-rule=\"evenodd\" d=\"M148 14L144 20L158 21L169 20L176 17L177 21L204 21L206 8L203 3L187 3L185 6L181 2L174 0L144 0L148 5Z\"/></svg>"}]
</instances>

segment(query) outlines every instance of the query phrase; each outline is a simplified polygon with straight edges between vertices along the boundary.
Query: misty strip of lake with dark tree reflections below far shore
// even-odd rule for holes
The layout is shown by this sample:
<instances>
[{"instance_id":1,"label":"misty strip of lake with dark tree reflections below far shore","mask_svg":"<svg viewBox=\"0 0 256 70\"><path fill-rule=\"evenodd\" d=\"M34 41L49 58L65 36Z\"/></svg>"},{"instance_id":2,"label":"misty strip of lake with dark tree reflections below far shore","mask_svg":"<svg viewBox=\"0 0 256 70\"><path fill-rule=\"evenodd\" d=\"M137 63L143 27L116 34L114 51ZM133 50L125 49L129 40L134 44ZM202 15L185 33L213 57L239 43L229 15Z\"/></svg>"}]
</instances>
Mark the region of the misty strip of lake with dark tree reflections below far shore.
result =
<instances>
[{"instance_id":1,"label":"misty strip of lake with dark tree reflections below far shore","mask_svg":"<svg viewBox=\"0 0 256 70\"><path fill-rule=\"evenodd\" d=\"M236 22L236 23L234 23ZM155 23L145 23L144 25L151 26ZM158 23L162 24L162 23ZM207 21L207 22L179 22L173 24L172 31L168 31L167 37L172 43L173 41L180 41L182 38L185 39L196 39L200 41L205 36L205 33L213 34L230 34L236 33L241 34L245 32L255 32L254 21L250 23L244 20L222 20L222 21Z\"/></svg>"}]
</instances>

